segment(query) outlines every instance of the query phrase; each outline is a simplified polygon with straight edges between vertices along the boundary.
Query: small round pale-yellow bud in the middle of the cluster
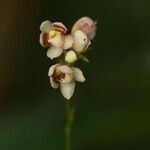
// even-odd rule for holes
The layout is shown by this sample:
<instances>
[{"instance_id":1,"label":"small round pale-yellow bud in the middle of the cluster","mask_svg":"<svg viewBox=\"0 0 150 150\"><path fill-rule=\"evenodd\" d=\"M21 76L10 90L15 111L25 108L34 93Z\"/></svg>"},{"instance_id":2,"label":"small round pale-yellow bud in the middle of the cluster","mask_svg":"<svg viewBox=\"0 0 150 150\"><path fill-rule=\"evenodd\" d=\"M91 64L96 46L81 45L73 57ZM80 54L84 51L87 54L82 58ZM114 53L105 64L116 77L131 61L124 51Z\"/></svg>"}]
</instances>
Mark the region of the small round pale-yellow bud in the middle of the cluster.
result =
<instances>
[{"instance_id":1,"label":"small round pale-yellow bud in the middle of the cluster","mask_svg":"<svg viewBox=\"0 0 150 150\"><path fill-rule=\"evenodd\" d=\"M66 53L65 61L68 63L74 63L77 60L77 55L73 50Z\"/></svg>"}]
</instances>

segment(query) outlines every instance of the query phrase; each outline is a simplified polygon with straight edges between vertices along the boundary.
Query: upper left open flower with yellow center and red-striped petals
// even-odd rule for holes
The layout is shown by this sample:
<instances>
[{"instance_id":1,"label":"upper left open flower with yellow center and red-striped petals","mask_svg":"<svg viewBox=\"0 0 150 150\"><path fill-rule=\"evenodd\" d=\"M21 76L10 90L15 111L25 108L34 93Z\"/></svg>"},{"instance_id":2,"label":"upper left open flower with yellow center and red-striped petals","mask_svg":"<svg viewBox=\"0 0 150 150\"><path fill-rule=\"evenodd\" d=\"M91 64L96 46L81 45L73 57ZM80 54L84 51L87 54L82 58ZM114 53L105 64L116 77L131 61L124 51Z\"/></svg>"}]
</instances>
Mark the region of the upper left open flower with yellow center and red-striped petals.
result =
<instances>
[{"instance_id":1,"label":"upper left open flower with yellow center and red-striped petals","mask_svg":"<svg viewBox=\"0 0 150 150\"><path fill-rule=\"evenodd\" d=\"M40 25L40 44L49 48L47 56L51 59L60 56L63 53L64 35L67 28L60 22L51 23L49 20Z\"/></svg>"}]
</instances>

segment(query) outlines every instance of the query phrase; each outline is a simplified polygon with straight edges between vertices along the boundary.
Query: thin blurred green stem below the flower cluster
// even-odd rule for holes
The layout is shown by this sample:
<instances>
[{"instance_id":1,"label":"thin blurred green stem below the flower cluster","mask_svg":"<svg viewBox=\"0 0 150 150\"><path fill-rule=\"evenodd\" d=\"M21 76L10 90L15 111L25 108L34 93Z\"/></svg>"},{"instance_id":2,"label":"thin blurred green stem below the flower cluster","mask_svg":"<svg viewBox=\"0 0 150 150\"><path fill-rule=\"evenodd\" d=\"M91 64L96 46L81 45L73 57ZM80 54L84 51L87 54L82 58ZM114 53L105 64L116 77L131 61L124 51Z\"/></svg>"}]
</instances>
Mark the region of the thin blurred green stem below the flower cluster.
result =
<instances>
[{"instance_id":1,"label":"thin blurred green stem below the flower cluster","mask_svg":"<svg viewBox=\"0 0 150 150\"><path fill-rule=\"evenodd\" d=\"M65 125L65 150L71 150L71 130L73 123L74 110L70 101L66 102L66 125Z\"/></svg>"}]
</instances>

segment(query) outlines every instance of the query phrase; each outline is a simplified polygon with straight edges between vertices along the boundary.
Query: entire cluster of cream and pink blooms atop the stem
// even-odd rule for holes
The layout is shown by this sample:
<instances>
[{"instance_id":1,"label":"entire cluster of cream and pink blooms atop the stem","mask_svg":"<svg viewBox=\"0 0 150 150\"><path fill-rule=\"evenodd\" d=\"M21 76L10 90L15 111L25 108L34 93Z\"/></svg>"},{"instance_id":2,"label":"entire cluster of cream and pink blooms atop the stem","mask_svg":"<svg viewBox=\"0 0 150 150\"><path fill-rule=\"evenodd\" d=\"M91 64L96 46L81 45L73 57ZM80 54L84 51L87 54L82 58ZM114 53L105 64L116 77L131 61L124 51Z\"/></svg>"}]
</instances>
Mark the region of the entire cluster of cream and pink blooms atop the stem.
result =
<instances>
[{"instance_id":1,"label":"entire cluster of cream and pink blooms atop the stem","mask_svg":"<svg viewBox=\"0 0 150 150\"><path fill-rule=\"evenodd\" d=\"M85 77L79 68L74 67L78 59L88 61L83 55L95 36L96 22L82 17L72 27L71 34L61 22L46 20L40 25L40 44L47 48L47 57L58 58L58 63L48 72L53 88L60 87L62 95L70 99L74 93L75 81L84 82Z\"/></svg>"}]
</instances>

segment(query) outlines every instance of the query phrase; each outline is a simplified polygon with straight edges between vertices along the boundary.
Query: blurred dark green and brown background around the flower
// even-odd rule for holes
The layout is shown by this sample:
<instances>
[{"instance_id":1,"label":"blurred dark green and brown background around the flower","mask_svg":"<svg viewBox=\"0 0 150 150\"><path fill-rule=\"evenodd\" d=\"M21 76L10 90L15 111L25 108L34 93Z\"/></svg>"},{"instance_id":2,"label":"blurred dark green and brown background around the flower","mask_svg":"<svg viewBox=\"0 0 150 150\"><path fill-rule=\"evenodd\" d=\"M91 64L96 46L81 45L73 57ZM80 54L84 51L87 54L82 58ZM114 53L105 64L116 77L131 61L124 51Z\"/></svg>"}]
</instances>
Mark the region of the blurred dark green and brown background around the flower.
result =
<instances>
[{"instance_id":1,"label":"blurred dark green and brown background around the flower","mask_svg":"<svg viewBox=\"0 0 150 150\"><path fill-rule=\"evenodd\" d=\"M0 150L64 150L65 103L49 84L42 21L98 22L77 64L73 150L150 149L149 0L0 0Z\"/></svg>"}]
</instances>

